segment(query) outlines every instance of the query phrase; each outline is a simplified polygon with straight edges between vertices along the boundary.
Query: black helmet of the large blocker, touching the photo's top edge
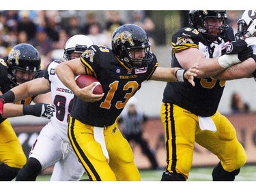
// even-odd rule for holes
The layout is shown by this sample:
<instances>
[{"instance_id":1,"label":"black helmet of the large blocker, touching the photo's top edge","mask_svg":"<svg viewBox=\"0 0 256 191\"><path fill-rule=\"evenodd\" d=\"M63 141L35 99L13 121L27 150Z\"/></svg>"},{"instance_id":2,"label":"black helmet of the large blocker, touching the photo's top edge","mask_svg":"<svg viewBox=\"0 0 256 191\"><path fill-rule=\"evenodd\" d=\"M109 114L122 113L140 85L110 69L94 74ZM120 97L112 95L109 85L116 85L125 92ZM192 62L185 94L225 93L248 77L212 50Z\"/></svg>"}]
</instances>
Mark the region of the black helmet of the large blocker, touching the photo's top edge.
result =
<instances>
[{"instance_id":1,"label":"black helmet of the large blocker, touching the photo's top edge","mask_svg":"<svg viewBox=\"0 0 256 191\"><path fill-rule=\"evenodd\" d=\"M216 41L218 37L221 37L223 39L225 37L225 34L227 30L229 29L229 26L226 24L227 22L227 14L226 11L223 10L192 10L189 12L189 18L190 18L190 24L197 29L200 33L202 33L206 39L210 42ZM219 26L206 26L205 19L206 18L213 18L213 19L222 19L222 25ZM220 33L218 35L212 35L208 33L210 29L218 29Z\"/></svg>"}]
</instances>

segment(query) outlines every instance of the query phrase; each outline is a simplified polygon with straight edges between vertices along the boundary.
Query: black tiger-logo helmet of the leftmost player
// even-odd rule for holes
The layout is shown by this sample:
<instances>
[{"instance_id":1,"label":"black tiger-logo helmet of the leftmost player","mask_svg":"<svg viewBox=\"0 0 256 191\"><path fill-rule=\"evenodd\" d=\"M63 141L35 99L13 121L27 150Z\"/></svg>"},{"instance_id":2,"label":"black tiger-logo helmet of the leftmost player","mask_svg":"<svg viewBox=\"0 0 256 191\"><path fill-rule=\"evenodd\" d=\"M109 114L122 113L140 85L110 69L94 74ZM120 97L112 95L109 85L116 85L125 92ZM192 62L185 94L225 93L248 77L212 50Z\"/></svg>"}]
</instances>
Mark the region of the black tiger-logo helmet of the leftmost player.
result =
<instances>
[{"instance_id":1,"label":"black tiger-logo helmet of the leftmost player","mask_svg":"<svg viewBox=\"0 0 256 191\"><path fill-rule=\"evenodd\" d=\"M15 84L17 83L16 71L23 71L27 73L34 73L33 79L38 77L41 71L41 58L38 50L30 44L18 44L12 48L8 55L8 67L10 80ZM23 79L20 79L23 80ZM26 82L27 80L23 80Z\"/></svg>"}]
</instances>

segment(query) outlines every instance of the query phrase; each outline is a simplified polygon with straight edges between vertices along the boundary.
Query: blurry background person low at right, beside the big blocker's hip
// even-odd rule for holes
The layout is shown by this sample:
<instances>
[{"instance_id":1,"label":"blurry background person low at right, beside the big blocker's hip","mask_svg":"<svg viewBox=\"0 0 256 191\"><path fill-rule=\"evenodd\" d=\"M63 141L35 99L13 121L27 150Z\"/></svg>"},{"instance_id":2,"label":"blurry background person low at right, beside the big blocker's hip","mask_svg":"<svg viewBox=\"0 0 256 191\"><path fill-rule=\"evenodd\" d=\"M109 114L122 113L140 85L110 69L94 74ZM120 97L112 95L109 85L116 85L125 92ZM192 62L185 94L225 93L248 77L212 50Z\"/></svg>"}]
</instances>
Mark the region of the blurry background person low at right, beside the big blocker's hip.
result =
<instances>
[{"instance_id":1,"label":"blurry background person low at right, beside the big blocker's hip","mask_svg":"<svg viewBox=\"0 0 256 191\"><path fill-rule=\"evenodd\" d=\"M242 101L242 98L238 92L233 92L231 96L231 111L233 114L251 112L250 106L248 103Z\"/></svg>"}]
</instances>

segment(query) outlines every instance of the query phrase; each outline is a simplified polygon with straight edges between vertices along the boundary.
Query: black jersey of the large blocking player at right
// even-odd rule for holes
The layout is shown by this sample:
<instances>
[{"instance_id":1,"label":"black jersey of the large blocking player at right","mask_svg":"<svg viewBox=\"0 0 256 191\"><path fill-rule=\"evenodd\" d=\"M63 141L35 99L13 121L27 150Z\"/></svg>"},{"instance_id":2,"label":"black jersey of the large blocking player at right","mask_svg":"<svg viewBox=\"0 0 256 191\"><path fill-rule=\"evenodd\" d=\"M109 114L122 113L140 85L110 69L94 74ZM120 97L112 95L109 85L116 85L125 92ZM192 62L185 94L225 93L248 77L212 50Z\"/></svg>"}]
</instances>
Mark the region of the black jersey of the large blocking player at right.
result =
<instances>
[{"instance_id":1,"label":"black jersey of the large blocking player at right","mask_svg":"<svg viewBox=\"0 0 256 191\"><path fill-rule=\"evenodd\" d=\"M198 48L205 58L221 56L229 41L233 41L233 29L229 29L226 39L219 39L218 43L210 43L196 29L183 28L172 37L173 55L171 67L181 67L175 58L175 53L188 48ZM189 58L188 58L189 59ZM195 86L188 82L168 82L165 87L163 102L173 103L197 116L212 116L218 109L225 81L211 77L199 79L195 77Z\"/></svg>"}]
</instances>

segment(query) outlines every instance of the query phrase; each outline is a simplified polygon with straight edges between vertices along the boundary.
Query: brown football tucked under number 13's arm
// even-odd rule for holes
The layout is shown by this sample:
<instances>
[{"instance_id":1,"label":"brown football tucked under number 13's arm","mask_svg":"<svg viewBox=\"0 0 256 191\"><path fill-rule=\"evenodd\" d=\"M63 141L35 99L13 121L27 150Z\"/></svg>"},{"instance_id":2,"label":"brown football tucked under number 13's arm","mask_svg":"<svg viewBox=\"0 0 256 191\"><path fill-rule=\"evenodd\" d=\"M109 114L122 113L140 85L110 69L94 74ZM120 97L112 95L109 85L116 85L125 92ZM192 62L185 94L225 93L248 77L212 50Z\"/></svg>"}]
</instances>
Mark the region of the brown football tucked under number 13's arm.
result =
<instances>
[{"instance_id":1,"label":"brown football tucked under number 13's arm","mask_svg":"<svg viewBox=\"0 0 256 191\"><path fill-rule=\"evenodd\" d=\"M77 84L77 86L79 86L79 88L84 88L86 86L89 86L93 82L98 82L98 80L95 77L92 77L91 75L86 75L86 74L76 76L75 80L76 80L76 84ZM96 84L96 86L94 86L91 89L91 91L93 94L102 94L103 89L102 89L100 82L98 82Z\"/></svg>"}]
</instances>

